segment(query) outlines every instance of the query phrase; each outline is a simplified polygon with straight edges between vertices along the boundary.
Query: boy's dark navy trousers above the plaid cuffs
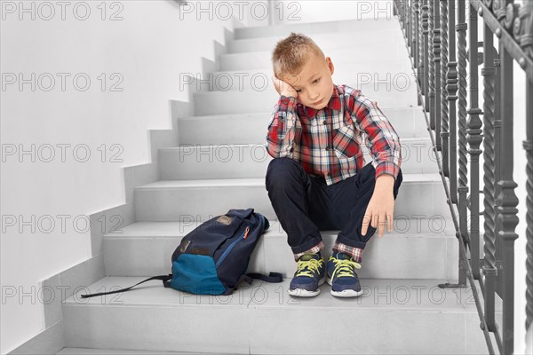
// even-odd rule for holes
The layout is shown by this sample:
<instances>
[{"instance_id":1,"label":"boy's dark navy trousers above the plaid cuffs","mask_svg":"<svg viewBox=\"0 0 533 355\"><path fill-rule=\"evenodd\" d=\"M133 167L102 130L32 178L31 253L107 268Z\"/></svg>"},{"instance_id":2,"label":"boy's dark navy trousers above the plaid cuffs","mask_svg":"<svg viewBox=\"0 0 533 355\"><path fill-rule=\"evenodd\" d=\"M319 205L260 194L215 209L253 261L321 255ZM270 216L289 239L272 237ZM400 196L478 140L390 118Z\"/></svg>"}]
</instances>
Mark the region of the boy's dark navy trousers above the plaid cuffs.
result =
<instances>
[{"instance_id":1,"label":"boy's dark navy trousers above the plaid cuffs","mask_svg":"<svg viewBox=\"0 0 533 355\"><path fill-rule=\"evenodd\" d=\"M291 158L275 158L268 165L268 197L294 254L313 248L322 241L321 230L340 230L337 241L364 248L376 232L369 225L362 235L362 219L376 185L371 162L354 177L327 185L323 177L306 173ZM394 199L402 185L402 170L394 183Z\"/></svg>"}]
</instances>

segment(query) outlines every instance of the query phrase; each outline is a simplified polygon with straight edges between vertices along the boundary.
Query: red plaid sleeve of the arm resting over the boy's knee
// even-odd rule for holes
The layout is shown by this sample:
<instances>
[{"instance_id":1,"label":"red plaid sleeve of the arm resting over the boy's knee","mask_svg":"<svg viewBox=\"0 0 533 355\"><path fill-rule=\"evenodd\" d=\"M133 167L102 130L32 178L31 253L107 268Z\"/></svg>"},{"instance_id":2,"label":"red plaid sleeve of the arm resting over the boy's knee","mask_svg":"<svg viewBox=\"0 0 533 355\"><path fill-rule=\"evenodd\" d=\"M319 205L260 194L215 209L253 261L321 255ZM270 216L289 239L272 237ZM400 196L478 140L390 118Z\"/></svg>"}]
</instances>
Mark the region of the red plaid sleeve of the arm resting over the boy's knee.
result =
<instances>
[{"instance_id":1,"label":"red plaid sleeve of the arm resting over the boy's knee","mask_svg":"<svg viewBox=\"0 0 533 355\"><path fill-rule=\"evenodd\" d=\"M383 174L398 177L402 165L400 138L376 101L350 95L348 107L358 130L366 134L366 145L376 169L376 178Z\"/></svg>"}]
</instances>

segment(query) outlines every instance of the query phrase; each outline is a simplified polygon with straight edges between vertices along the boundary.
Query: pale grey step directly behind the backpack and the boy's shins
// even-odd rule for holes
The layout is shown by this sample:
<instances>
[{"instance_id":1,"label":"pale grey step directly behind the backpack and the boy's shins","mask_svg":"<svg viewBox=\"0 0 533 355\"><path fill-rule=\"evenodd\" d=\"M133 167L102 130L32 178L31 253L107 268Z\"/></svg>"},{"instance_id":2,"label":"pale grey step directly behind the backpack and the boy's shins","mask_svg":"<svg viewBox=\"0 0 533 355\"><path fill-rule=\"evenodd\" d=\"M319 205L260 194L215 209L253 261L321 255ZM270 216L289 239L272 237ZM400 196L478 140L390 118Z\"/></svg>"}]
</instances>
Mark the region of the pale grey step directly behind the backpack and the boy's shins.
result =
<instances>
[{"instance_id":1,"label":"pale grey step directly behind the backpack and the boy's shins","mask_svg":"<svg viewBox=\"0 0 533 355\"><path fill-rule=\"evenodd\" d=\"M279 221L263 234L251 256L248 272L281 272L289 277L296 264ZM171 256L181 238L201 222L138 222L104 236L104 260L109 276L154 276L171 272ZM373 279L443 279L457 273L457 239L451 220L394 221L393 233L374 236L364 251L358 274ZM326 259L338 231L322 231ZM406 257L416 255L416 257Z\"/></svg>"}]
</instances>

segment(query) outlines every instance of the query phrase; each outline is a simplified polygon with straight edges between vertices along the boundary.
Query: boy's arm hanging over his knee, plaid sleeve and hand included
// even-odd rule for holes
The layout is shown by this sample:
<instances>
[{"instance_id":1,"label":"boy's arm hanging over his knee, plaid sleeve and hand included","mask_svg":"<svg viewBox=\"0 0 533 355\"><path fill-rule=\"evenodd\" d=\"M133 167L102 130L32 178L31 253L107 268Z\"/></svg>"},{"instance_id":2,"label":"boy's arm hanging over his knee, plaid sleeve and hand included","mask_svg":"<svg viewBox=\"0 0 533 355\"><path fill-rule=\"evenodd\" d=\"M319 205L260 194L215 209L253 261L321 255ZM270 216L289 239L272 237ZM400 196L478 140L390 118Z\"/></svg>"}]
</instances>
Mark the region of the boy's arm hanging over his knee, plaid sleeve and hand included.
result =
<instances>
[{"instance_id":1,"label":"boy's arm hanging over his knee, plaid sleeve and hand included","mask_svg":"<svg viewBox=\"0 0 533 355\"><path fill-rule=\"evenodd\" d=\"M367 145L376 166L376 185L365 211L362 235L368 226L383 236L386 225L393 231L394 182L402 165L400 138L378 104L364 96L350 97L349 106L359 130L367 135Z\"/></svg>"}]
</instances>

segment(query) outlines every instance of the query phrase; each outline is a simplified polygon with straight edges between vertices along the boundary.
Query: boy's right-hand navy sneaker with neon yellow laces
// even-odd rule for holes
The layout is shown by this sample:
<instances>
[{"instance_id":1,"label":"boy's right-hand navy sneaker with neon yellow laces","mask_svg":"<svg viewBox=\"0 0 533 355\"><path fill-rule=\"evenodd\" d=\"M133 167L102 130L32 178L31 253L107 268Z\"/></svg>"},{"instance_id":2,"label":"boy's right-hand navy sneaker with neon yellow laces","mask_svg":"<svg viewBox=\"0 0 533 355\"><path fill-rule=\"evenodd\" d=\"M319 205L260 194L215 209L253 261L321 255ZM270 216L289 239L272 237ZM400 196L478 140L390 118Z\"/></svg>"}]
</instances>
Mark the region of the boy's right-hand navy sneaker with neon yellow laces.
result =
<instances>
[{"instance_id":1,"label":"boy's right-hand navy sneaker with neon yellow laces","mask_svg":"<svg viewBox=\"0 0 533 355\"><path fill-rule=\"evenodd\" d=\"M327 269L331 295L338 297L362 295L361 284L355 272L355 269L361 269L361 264L354 262L352 256L345 253L334 253L328 260Z\"/></svg>"}]
</instances>

